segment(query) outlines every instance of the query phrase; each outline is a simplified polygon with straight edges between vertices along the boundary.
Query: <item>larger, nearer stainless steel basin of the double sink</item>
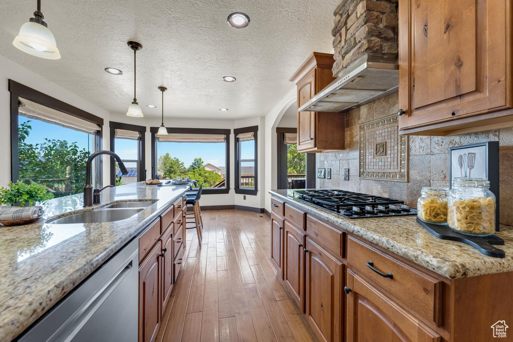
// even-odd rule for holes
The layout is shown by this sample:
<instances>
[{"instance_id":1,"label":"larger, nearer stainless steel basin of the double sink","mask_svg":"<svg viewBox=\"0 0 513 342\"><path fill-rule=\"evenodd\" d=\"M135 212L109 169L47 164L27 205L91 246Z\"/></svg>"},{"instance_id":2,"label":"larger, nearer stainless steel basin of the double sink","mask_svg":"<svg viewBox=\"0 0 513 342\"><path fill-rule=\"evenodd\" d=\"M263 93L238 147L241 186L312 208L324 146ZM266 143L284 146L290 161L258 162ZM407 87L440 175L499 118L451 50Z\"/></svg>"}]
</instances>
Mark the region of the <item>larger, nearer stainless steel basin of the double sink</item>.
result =
<instances>
[{"instance_id":1,"label":"larger, nearer stainless steel basin of the double sink","mask_svg":"<svg viewBox=\"0 0 513 342\"><path fill-rule=\"evenodd\" d=\"M93 211L86 211L83 213L77 213L62 218L57 218L54 221L48 221L52 225L66 225L76 223L101 223L101 222L113 222L119 221L132 217L138 212L142 211L143 208L134 209L96 209Z\"/></svg>"}]
</instances>

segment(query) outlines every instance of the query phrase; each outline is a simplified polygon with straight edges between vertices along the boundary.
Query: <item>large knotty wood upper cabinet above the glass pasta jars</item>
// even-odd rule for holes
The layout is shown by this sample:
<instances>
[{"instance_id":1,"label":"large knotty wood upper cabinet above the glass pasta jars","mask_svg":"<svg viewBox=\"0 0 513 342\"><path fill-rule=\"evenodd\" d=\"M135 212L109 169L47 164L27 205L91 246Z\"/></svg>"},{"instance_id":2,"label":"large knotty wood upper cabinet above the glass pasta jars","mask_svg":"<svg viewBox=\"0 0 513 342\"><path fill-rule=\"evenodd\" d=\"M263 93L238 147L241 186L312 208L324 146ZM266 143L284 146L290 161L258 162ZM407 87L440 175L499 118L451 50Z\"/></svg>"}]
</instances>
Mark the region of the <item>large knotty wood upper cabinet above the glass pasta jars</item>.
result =
<instances>
[{"instance_id":1,"label":"large knotty wood upper cabinet above the glass pasta jars","mask_svg":"<svg viewBox=\"0 0 513 342\"><path fill-rule=\"evenodd\" d=\"M511 7L507 0L399 2L401 133L512 125Z\"/></svg>"}]
</instances>

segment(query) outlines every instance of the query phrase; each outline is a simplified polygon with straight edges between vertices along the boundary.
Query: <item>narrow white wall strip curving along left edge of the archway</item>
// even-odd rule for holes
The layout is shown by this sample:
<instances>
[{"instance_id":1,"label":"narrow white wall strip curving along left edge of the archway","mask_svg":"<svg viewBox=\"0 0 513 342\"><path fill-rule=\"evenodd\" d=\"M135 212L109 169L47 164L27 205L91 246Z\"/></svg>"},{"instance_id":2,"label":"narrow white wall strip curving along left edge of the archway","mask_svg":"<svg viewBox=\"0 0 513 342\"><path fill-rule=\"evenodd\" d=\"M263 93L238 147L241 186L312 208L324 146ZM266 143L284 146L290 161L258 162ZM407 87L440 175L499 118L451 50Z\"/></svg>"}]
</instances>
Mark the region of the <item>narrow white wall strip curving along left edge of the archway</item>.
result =
<instances>
[{"instance_id":1,"label":"narrow white wall strip curving along left edge of the archway","mask_svg":"<svg viewBox=\"0 0 513 342\"><path fill-rule=\"evenodd\" d=\"M277 155L276 155L276 127L284 113L293 106L297 100L297 89L291 87L285 97L274 106L265 116L265 188L264 188L264 208L271 211L271 195L268 193L271 189L278 186L277 176ZM295 105L294 105L295 106Z\"/></svg>"}]
</instances>

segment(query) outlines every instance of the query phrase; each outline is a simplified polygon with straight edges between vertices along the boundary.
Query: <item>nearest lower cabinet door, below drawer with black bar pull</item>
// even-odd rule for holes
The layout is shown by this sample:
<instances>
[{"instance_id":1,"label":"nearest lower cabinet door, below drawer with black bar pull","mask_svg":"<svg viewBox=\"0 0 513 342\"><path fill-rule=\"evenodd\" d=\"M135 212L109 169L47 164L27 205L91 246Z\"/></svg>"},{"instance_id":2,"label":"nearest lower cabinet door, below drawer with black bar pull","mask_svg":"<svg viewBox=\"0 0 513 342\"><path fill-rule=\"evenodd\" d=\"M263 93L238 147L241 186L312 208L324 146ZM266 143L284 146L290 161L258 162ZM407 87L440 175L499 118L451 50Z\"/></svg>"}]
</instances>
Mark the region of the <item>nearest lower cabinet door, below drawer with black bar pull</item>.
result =
<instances>
[{"instance_id":1,"label":"nearest lower cabinet door, below drawer with black bar pull","mask_svg":"<svg viewBox=\"0 0 513 342\"><path fill-rule=\"evenodd\" d=\"M346 291L347 341L441 341L439 334L351 270Z\"/></svg>"}]
</instances>

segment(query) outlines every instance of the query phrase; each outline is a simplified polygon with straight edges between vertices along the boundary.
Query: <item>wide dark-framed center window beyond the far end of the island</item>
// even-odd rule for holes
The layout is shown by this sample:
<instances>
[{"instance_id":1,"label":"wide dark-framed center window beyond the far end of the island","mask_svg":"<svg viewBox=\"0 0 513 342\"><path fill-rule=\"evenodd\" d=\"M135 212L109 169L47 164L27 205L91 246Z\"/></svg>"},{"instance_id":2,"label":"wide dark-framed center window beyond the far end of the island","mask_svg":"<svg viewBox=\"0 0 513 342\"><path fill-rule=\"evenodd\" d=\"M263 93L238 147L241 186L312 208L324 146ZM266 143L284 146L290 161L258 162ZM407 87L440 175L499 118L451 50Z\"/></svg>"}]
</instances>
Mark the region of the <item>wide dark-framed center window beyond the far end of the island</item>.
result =
<instances>
[{"instance_id":1,"label":"wide dark-framed center window beyond the far end of the island","mask_svg":"<svg viewBox=\"0 0 513 342\"><path fill-rule=\"evenodd\" d=\"M203 193L229 192L229 129L168 128L152 136L152 174L160 178L190 177L204 183Z\"/></svg>"}]
</instances>

